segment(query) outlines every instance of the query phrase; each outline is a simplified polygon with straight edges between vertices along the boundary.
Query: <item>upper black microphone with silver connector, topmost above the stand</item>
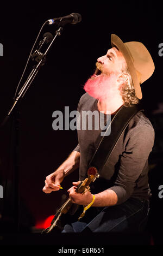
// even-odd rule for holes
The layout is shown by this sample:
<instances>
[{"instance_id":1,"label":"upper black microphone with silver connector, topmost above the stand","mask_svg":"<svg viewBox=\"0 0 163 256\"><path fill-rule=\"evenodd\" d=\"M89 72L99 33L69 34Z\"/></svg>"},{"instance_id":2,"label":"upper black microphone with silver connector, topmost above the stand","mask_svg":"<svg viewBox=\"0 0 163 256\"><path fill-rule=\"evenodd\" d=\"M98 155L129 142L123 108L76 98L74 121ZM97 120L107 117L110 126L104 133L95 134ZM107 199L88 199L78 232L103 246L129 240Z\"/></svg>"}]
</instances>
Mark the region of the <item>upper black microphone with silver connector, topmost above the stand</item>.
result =
<instances>
[{"instance_id":1,"label":"upper black microphone with silver connector, topmost above the stand","mask_svg":"<svg viewBox=\"0 0 163 256\"><path fill-rule=\"evenodd\" d=\"M65 26L67 23L77 24L80 21L82 21L82 16L79 13L72 13L64 17L47 20L46 23L49 25L57 24L58 26Z\"/></svg>"}]
</instances>

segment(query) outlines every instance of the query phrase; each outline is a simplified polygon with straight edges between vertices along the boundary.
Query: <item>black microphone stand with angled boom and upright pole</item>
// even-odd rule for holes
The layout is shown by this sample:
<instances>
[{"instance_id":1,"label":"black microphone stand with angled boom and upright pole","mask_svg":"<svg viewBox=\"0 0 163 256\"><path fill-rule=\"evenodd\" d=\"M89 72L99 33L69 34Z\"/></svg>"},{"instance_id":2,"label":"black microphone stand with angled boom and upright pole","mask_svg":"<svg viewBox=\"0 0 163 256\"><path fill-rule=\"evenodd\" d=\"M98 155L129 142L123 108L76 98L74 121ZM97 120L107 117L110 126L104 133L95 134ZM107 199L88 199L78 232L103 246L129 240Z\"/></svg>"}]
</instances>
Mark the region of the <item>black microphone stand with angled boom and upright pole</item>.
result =
<instances>
[{"instance_id":1,"label":"black microphone stand with angled boom and upright pole","mask_svg":"<svg viewBox=\"0 0 163 256\"><path fill-rule=\"evenodd\" d=\"M20 102L20 100L26 94L26 92L27 92L28 88L30 87L30 85L32 84L36 74L39 72L40 67L45 64L47 53L51 49L51 46L54 43L54 40L58 37L58 35L61 35L62 30L63 30L63 28L60 27L55 32L55 37L51 41L51 44L49 44L45 53L41 53L38 50L35 50L35 52L33 53L33 55L32 55L33 60L35 60L36 62L39 62L39 63L33 67L32 72L30 72L26 82L22 86L21 90L18 92L17 97L14 98L14 104L12 105L10 111L8 112L8 115L4 118L4 121L1 124L1 127L4 126L4 124L7 122L7 120L11 116L11 114L14 114L13 115L13 117L14 117L13 123L14 124L12 124L12 126L14 126L14 140L13 140L14 141L14 152L13 152L14 163L13 163L13 165L15 167L13 170L13 172L14 172L14 175L13 175L14 182L13 183L15 185L15 187L14 187L14 189L15 189L14 218L15 218L15 231L17 231L17 233L20 231L20 193L19 193L19 170L18 170L19 169L18 168L18 144L19 144L18 130L19 130L19 123L20 123L20 118L19 118L20 112L16 109L16 106L18 105L18 102ZM41 44L43 44L44 42L45 42L45 40L42 40ZM39 50L40 50L40 48L39 48ZM5 212L5 210L3 212Z\"/></svg>"}]
</instances>

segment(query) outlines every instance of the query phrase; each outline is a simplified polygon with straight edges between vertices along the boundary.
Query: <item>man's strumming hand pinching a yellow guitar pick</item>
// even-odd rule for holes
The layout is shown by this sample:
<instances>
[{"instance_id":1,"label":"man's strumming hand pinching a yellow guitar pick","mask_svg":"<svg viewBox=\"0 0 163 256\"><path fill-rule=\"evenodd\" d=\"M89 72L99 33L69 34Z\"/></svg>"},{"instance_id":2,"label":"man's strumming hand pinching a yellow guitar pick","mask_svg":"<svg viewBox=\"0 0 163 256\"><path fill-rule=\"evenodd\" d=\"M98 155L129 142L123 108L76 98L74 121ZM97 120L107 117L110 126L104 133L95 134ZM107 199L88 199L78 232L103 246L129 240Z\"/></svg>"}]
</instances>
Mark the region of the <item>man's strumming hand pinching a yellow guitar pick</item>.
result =
<instances>
[{"instance_id":1,"label":"man's strumming hand pinching a yellow guitar pick","mask_svg":"<svg viewBox=\"0 0 163 256\"><path fill-rule=\"evenodd\" d=\"M48 175L45 180L45 186L42 191L46 194L52 191L57 191L60 188L60 183L64 180L65 172L64 170L54 171L52 174Z\"/></svg>"}]
</instances>

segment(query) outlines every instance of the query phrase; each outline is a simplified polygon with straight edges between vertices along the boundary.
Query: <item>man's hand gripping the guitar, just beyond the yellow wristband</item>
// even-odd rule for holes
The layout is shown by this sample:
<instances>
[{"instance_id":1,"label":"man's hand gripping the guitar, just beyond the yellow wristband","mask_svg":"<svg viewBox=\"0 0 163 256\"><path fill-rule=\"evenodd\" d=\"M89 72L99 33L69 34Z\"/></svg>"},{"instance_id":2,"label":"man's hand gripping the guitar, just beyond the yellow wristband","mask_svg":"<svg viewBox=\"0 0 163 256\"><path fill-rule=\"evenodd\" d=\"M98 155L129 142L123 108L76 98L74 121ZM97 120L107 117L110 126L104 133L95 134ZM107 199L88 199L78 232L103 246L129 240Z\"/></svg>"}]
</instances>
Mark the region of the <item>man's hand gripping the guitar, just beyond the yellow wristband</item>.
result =
<instances>
[{"instance_id":1,"label":"man's hand gripping the guitar, just beyond the yellow wristband","mask_svg":"<svg viewBox=\"0 0 163 256\"><path fill-rule=\"evenodd\" d=\"M68 189L67 192L69 193L69 197L72 203L87 206L91 203L93 199L93 195L89 190L86 190L84 194L77 193L76 188L79 184L80 184L80 181L73 182L74 186Z\"/></svg>"}]
</instances>

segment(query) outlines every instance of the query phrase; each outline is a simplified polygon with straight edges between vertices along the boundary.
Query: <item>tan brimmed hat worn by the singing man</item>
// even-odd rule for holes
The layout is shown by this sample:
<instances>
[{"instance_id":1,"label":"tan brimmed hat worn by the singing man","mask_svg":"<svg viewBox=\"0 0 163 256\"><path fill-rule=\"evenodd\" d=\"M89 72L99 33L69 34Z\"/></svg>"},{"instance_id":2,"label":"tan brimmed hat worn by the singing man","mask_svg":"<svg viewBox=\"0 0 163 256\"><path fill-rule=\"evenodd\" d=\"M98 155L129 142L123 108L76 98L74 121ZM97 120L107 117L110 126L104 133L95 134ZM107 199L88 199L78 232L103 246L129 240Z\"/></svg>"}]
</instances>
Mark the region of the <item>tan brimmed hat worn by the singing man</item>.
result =
<instances>
[{"instance_id":1,"label":"tan brimmed hat worn by the singing man","mask_svg":"<svg viewBox=\"0 0 163 256\"><path fill-rule=\"evenodd\" d=\"M131 78L133 80L137 98L142 98L140 85L145 82L154 72L154 63L151 54L140 42L123 41L115 34L111 34L111 45L116 46L126 59Z\"/></svg>"}]
</instances>

